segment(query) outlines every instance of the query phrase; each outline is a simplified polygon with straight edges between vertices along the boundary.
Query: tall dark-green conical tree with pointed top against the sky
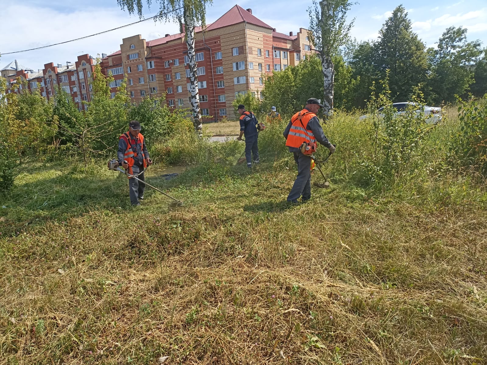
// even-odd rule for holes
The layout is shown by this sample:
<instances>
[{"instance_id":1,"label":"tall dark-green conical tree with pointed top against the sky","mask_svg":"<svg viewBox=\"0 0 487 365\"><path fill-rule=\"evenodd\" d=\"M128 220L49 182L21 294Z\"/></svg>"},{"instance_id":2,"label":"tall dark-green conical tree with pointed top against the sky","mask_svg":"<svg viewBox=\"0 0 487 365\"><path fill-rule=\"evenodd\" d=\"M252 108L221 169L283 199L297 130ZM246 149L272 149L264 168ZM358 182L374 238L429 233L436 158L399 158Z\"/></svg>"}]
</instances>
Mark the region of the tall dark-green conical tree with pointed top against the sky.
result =
<instances>
[{"instance_id":1,"label":"tall dark-green conical tree with pointed top against the sky","mask_svg":"<svg viewBox=\"0 0 487 365\"><path fill-rule=\"evenodd\" d=\"M411 30L411 20L406 9L399 5L393 11L374 44L373 64L381 80L389 74L393 101L408 100L414 87L425 85L428 61L425 45Z\"/></svg>"}]
</instances>

